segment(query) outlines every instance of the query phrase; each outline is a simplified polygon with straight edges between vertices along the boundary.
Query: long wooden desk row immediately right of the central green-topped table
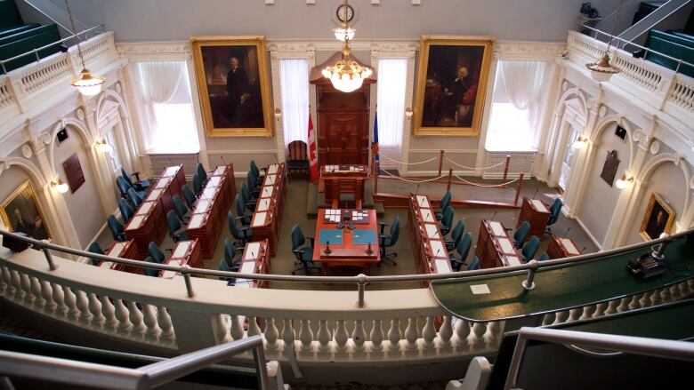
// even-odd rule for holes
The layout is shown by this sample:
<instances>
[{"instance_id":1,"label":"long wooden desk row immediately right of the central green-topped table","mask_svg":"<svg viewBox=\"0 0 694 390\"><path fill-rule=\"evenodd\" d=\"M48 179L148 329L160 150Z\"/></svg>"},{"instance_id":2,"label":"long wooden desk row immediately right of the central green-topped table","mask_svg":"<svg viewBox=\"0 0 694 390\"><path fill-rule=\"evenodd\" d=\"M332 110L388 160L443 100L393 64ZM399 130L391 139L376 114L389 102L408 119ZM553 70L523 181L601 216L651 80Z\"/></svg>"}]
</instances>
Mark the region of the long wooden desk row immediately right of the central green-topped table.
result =
<instances>
[{"instance_id":1,"label":"long wooden desk row immediately right of the central green-topped table","mask_svg":"<svg viewBox=\"0 0 694 390\"><path fill-rule=\"evenodd\" d=\"M415 250L419 274L449 274L453 272L443 235L436 222L432 201L428 196L409 195L408 204L409 239ZM423 281L422 287L429 282Z\"/></svg>"}]
</instances>

